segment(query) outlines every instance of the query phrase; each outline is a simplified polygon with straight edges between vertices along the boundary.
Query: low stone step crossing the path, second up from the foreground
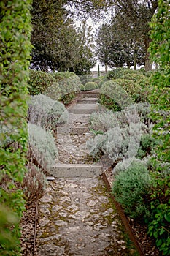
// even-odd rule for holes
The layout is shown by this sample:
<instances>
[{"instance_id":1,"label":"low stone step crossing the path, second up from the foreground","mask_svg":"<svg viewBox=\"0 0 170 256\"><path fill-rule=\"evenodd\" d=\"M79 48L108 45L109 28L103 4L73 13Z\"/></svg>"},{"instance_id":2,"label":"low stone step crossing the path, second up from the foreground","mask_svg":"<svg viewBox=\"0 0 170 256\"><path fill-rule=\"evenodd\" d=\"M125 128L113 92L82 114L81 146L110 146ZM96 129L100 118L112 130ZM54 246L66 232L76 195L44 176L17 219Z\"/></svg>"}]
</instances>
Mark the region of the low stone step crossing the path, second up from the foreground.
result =
<instances>
[{"instance_id":1,"label":"low stone step crossing the path, second up from the foreground","mask_svg":"<svg viewBox=\"0 0 170 256\"><path fill-rule=\"evenodd\" d=\"M58 135L82 135L89 132L88 127L57 127Z\"/></svg>"}]
</instances>

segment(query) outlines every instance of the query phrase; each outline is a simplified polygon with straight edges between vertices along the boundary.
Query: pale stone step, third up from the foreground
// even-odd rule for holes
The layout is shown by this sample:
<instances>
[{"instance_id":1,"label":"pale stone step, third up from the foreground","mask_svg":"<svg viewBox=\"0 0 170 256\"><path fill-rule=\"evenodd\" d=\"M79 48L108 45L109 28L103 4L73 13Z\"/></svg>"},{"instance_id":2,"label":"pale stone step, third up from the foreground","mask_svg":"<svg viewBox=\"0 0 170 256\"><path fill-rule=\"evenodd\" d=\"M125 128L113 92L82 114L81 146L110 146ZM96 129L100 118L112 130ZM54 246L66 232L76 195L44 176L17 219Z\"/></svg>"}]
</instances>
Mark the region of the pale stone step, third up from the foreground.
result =
<instances>
[{"instance_id":1,"label":"pale stone step, third up from the foreground","mask_svg":"<svg viewBox=\"0 0 170 256\"><path fill-rule=\"evenodd\" d=\"M91 114L98 110L97 104L77 104L67 109L69 113Z\"/></svg>"}]
</instances>

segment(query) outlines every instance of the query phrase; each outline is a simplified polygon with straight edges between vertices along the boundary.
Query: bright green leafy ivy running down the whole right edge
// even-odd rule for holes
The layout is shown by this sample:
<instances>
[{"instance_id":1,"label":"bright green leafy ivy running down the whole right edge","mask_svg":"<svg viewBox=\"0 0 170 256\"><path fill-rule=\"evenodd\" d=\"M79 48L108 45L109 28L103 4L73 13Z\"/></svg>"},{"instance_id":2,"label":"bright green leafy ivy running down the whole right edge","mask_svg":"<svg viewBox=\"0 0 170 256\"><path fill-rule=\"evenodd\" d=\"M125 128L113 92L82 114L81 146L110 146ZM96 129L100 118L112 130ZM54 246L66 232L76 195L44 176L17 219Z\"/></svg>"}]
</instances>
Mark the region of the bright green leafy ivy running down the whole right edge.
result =
<instances>
[{"instance_id":1,"label":"bright green leafy ivy running down the whole right edge","mask_svg":"<svg viewBox=\"0 0 170 256\"><path fill-rule=\"evenodd\" d=\"M150 197L150 218L147 219L150 236L163 255L170 254L170 4L168 0L158 1L158 12L152 18L150 56L158 64L158 71L152 76L152 119L153 132L161 140L153 157L155 184ZM165 174L166 172L166 174Z\"/></svg>"}]
</instances>

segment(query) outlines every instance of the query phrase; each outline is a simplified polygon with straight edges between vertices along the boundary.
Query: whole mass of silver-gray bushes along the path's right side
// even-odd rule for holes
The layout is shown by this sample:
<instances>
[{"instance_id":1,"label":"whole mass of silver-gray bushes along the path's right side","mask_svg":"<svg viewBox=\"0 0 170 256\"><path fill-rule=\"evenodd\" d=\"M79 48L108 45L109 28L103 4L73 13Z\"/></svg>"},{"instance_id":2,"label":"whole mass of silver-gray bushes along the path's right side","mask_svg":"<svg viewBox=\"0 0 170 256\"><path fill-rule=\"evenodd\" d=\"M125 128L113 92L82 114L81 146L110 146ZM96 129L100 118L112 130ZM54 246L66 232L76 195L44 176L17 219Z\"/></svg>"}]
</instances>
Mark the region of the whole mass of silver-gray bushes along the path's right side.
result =
<instances>
[{"instance_id":1,"label":"whole mass of silver-gray bushes along the path's right side","mask_svg":"<svg viewBox=\"0 0 170 256\"><path fill-rule=\"evenodd\" d=\"M147 120L149 113L150 105L145 102L129 105L121 112L107 110L93 113L90 127L104 134L88 140L86 145L90 155L95 157L102 152L113 162L125 161L126 167L130 165L139 149L141 135L150 132L150 121ZM146 124L144 120L147 120Z\"/></svg>"}]
</instances>

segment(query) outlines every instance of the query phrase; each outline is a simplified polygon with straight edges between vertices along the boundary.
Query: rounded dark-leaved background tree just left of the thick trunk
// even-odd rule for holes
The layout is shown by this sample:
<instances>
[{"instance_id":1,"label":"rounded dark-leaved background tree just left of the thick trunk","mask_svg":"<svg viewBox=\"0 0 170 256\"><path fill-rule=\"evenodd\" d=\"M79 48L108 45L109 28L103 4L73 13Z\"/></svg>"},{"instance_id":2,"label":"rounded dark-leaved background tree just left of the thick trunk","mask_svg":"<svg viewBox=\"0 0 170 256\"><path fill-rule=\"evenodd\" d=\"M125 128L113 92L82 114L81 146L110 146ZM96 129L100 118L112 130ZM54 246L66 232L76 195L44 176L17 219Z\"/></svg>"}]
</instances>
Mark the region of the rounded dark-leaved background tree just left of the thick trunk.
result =
<instances>
[{"instance_id":1,"label":"rounded dark-leaved background tree just left of the thick trunk","mask_svg":"<svg viewBox=\"0 0 170 256\"><path fill-rule=\"evenodd\" d=\"M106 67L131 67L144 64L144 45L136 34L131 33L131 26L125 29L120 24L120 18L110 24L102 25L96 39L96 53L99 61Z\"/></svg>"}]
</instances>

